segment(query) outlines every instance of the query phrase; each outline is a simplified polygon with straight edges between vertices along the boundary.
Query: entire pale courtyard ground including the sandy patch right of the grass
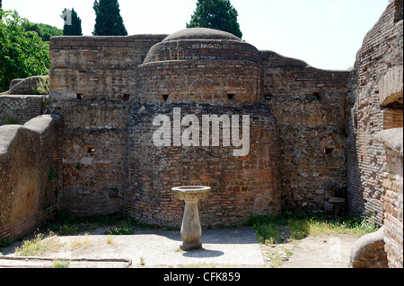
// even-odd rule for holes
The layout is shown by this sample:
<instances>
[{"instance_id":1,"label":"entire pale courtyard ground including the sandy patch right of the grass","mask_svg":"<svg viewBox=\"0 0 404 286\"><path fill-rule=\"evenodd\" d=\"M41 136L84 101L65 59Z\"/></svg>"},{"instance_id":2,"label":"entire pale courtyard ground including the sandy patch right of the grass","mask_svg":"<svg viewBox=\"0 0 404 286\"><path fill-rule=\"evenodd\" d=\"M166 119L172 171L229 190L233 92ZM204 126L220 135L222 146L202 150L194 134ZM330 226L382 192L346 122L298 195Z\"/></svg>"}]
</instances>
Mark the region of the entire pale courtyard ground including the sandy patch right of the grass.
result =
<instances>
[{"instance_id":1,"label":"entire pale courtyard ground including the sandy patch right of the grass","mask_svg":"<svg viewBox=\"0 0 404 286\"><path fill-rule=\"evenodd\" d=\"M36 257L19 257L14 243L3 250L0 267L48 268L68 260L70 268L272 268L269 254L288 247L279 268L347 268L356 238L316 236L287 245L259 245L254 230L203 230L203 248L180 250L180 231L136 230L134 235L107 236L102 229L86 235L50 237L57 250ZM274 259L272 257L272 259Z\"/></svg>"}]
</instances>

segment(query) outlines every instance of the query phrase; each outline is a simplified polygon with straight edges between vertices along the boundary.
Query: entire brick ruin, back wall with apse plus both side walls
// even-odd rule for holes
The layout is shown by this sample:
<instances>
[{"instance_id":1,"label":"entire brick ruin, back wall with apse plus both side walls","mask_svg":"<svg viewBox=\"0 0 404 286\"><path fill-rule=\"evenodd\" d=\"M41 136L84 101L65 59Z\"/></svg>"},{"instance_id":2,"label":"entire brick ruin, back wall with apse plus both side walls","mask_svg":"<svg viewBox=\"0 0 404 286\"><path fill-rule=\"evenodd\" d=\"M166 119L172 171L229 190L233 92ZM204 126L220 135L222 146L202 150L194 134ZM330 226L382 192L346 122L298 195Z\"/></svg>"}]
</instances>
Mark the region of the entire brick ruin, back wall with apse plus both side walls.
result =
<instances>
[{"instance_id":1,"label":"entire brick ruin, back wall with apse plus both side walls","mask_svg":"<svg viewBox=\"0 0 404 286\"><path fill-rule=\"evenodd\" d=\"M48 96L0 96L2 122L27 122L13 134L29 132L43 113L52 117L38 119L40 130L56 134L33 135L40 145L32 152L53 154L37 165L12 164L24 156L8 146L25 146L22 135L0 137L0 166L13 165L0 169L0 237L21 235L57 210L179 225L182 202L171 187L205 185L212 192L199 204L204 227L240 225L253 214L333 212L343 198L348 213L384 225L389 266L402 267L402 143L388 140L402 138L402 1L388 4L368 32L353 71L317 69L206 29L54 37L50 61ZM155 146L154 118L173 123L174 110L181 119L195 115L199 126L204 115L249 115L250 152L233 156L238 148L224 146L223 135L219 146L173 145L189 122L171 130L170 146ZM47 203L37 194L25 213L11 178L28 182L32 168L46 182Z\"/></svg>"}]
</instances>

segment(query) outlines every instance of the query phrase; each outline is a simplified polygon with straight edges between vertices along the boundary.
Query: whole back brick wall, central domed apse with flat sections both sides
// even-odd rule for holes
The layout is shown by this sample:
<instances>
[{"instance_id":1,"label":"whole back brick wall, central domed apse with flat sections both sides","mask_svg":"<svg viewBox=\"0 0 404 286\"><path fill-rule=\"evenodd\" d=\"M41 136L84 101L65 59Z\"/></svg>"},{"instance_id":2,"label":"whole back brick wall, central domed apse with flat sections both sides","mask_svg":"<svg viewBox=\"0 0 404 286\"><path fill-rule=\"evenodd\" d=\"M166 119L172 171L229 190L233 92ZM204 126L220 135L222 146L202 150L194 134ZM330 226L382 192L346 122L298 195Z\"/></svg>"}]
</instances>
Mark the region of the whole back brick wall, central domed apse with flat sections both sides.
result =
<instances>
[{"instance_id":1,"label":"whole back brick wall, central domed apse with flat sections both sides","mask_svg":"<svg viewBox=\"0 0 404 286\"><path fill-rule=\"evenodd\" d=\"M212 191L200 201L201 222L220 226L284 207L323 211L346 186L347 71L323 71L229 33L194 28L53 37L50 57L50 108L65 117L68 212L124 212L179 225L182 203L171 187L203 184ZM224 146L223 131L237 130L238 116L242 139L242 115L250 116L249 152L237 154L237 136L229 134ZM219 145L203 144L204 116L221 120ZM155 145L164 120L172 145ZM190 146L174 144L197 134Z\"/></svg>"}]
</instances>

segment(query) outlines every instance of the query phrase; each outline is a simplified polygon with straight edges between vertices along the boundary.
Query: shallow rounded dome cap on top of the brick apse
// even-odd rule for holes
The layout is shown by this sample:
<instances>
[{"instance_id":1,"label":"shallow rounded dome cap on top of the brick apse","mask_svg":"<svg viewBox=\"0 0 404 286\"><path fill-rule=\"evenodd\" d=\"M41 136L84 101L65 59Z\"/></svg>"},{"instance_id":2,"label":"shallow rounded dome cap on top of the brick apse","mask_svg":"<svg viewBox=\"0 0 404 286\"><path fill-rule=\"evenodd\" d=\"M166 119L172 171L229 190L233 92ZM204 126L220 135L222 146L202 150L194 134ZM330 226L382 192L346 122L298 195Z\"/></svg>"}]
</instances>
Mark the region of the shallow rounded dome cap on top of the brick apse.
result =
<instances>
[{"instance_id":1,"label":"shallow rounded dome cap on top of the brick apse","mask_svg":"<svg viewBox=\"0 0 404 286\"><path fill-rule=\"evenodd\" d=\"M167 36L162 41L180 40L180 39L233 39L242 41L231 33L222 30L208 28L189 28L179 30Z\"/></svg>"}]
</instances>

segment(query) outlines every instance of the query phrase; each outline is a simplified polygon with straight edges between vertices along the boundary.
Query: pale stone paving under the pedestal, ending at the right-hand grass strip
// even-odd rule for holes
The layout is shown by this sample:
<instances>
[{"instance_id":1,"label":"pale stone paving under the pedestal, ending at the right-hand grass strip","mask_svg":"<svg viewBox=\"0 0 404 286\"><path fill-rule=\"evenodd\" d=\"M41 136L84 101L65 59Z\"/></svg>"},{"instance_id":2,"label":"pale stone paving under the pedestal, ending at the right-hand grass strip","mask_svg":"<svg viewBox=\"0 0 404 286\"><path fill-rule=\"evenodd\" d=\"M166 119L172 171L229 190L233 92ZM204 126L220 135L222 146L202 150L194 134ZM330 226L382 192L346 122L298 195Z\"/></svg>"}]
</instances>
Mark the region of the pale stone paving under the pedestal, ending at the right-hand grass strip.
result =
<instances>
[{"instance_id":1,"label":"pale stone paving under the pedestal, ending at the right-hand grass strip","mask_svg":"<svg viewBox=\"0 0 404 286\"><path fill-rule=\"evenodd\" d=\"M46 264L50 267L54 259L70 260L70 267L204 267L211 264L225 266L244 265L264 267L265 261L254 230L249 228L203 230L200 241L203 248L194 251L180 250L180 231L136 230L128 236L90 234L83 236L57 237L60 244L76 244L79 247L61 247L45 254L48 260L19 259L21 264L32 267ZM85 240L85 241L84 241ZM15 257L10 253L5 255ZM4 258L4 257L3 257ZM18 258L15 258L18 259ZM121 261L116 261L116 260ZM114 261L115 260L115 261ZM94 266L96 262L100 262ZM130 263L127 263L130 262ZM13 264L13 265L12 265ZM129 264L129 265L128 265ZM144 265L141 265L144 264ZM18 261L2 259L0 267L18 267Z\"/></svg>"}]
</instances>

